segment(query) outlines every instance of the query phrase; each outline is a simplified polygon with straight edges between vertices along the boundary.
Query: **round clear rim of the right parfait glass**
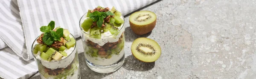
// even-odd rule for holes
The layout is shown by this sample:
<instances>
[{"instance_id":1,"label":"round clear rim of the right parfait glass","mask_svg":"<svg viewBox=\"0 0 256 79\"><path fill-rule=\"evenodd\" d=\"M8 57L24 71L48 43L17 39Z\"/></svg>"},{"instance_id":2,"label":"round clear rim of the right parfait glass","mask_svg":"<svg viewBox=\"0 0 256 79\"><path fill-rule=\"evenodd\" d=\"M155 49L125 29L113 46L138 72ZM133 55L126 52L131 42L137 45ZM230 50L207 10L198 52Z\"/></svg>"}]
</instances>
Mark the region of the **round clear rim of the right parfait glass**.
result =
<instances>
[{"instance_id":1,"label":"round clear rim of the right parfait glass","mask_svg":"<svg viewBox=\"0 0 256 79\"><path fill-rule=\"evenodd\" d=\"M83 30L83 28L81 27L81 20L82 20L83 18L86 18L85 15L87 15L87 12L86 12L85 14L83 14L83 16L80 18L80 20L79 20L79 28L80 28L80 30L81 30L84 34L87 34L87 33ZM122 30L122 28L124 28L124 26L125 26L125 17L124 17L123 15L121 15L121 17L122 17L122 20L124 20L124 23L122 24L122 27L121 27L116 33L111 34L111 35L109 35L109 36L101 37L101 39L102 39L102 38L108 38L108 37L114 36L114 35L118 34L118 33ZM84 21L83 21L83 22L84 22ZM88 35L89 37L95 37L95 36L92 36L92 35L90 35L90 34L87 34L87 35Z\"/></svg>"}]
</instances>

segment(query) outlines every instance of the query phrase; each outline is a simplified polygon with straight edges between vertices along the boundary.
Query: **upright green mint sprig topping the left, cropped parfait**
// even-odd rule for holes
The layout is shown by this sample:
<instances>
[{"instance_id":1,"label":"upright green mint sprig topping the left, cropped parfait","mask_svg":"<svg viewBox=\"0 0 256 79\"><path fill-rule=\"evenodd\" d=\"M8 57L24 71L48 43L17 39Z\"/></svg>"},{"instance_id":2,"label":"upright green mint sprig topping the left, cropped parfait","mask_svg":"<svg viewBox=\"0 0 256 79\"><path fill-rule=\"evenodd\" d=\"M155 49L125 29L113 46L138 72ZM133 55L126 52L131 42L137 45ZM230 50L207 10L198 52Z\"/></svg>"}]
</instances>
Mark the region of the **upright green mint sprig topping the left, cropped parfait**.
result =
<instances>
[{"instance_id":1,"label":"upright green mint sprig topping the left, cropped parfait","mask_svg":"<svg viewBox=\"0 0 256 79\"><path fill-rule=\"evenodd\" d=\"M43 42L46 45L52 45L54 41L61 41L63 37L63 28L52 31L55 28L55 22L51 21L47 26L41 26L40 31L44 32Z\"/></svg>"}]
</instances>

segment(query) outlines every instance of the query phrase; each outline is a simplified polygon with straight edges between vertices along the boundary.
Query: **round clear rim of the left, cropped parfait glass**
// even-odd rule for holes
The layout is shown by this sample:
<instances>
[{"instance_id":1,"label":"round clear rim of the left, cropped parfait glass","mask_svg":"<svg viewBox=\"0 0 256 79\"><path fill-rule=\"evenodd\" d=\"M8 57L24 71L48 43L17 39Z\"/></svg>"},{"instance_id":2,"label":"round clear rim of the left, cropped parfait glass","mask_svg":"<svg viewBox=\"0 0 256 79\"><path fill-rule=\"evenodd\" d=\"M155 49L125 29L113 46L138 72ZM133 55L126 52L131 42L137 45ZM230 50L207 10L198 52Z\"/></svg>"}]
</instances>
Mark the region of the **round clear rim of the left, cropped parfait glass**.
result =
<instances>
[{"instance_id":1,"label":"round clear rim of the left, cropped parfait glass","mask_svg":"<svg viewBox=\"0 0 256 79\"><path fill-rule=\"evenodd\" d=\"M75 39L75 41L76 41L76 38L73 36L73 34L70 34L74 39ZM41 36L41 34L40 34L40 36ZM40 36L38 36L38 37L40 37ZM32 55L33 55L33 57L35 58L35 59L37 59L36 57L35 57L35 54L33 53L33 47L34 47L34 44L35 44L35 42L37 42L36 40L38 39L38 37L34 40L34 42L32 43L32 46L31 46L31 53L32 53ZM38 43L39 44L39 43ZM74 46L74 50L71 52L71 54L73 54L73 52L76 50L76 43L75 43L75 46ZM69 54L67 57L69 57L71 54ZM66 57L66 58L67 58ZM66 58L64 58L64 59L66 59ZM64 59L61 59L61 60L64 60ZM42 62L40 59L37 59L38 61L40 61L40 62ZM61 60L58 60L58 61L61 61ZM58 61L54 61L54 62L58 62ZM44 62L44 61L43 61Z\"/></svg>"}]
</instances>

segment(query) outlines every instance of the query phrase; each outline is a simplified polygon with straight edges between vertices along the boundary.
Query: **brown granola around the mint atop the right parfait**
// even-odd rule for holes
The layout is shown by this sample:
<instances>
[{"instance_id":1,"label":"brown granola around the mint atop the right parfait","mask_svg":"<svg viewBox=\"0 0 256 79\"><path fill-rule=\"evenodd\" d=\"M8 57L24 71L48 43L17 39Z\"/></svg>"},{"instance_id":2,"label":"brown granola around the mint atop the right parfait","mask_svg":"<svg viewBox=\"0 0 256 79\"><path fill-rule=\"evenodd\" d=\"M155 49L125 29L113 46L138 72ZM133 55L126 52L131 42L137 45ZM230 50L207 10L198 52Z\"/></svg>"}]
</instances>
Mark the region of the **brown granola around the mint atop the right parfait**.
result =
<instances>
[{"instance_id":1,"label":"brown granola around the mint atop the right parfait","mask_svg":"<svg viewBox=\"0 0 256 79\"><path fill-rule=\"evenodd\" d=\"M106 12L106 11L109 11L109 8L106 7L106 8L94 8L92 11L90 11L91 13L93 13L94 11L99 11L99 12ZM113 15L109 15L108 17L105 17L104 20L103 20L103 23L102 23L102 27L105 27L106 25L104 25L105 22L110 22L110 17L114 17ZM93 22L93 25L91 25L90 28L93 28L97 26L97 23L96 22Z\"/></svg>"}]
</instances>

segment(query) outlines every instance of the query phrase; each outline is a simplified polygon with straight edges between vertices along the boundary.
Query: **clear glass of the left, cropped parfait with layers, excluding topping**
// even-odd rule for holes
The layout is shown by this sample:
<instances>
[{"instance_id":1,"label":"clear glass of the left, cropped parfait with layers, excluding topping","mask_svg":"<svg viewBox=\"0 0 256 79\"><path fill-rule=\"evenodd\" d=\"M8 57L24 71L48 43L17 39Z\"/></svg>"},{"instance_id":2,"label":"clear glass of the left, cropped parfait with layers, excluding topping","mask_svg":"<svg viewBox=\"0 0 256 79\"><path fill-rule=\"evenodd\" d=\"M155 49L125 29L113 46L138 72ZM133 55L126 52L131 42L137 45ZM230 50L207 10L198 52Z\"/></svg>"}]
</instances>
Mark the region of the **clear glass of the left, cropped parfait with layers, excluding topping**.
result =
<instances>
[{"instance_id":1,"label":"clear glass of the left, cropped parfait with layers, excluding topping","mask_svg":"<svg viewBox=\"0 0 256 79\"><path fill-rule=\"evenodd\" d=\"M70 34L70 37L73 37L73 35ZM38 44L36 39L32 44L32 54L35 45ZM76 44L73 48L74 50L70 55L59 61L47 62L33 54L41 79L81 79Z\"/></svg>"}]
</instances>

